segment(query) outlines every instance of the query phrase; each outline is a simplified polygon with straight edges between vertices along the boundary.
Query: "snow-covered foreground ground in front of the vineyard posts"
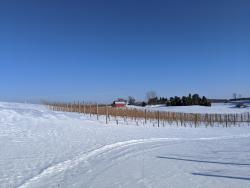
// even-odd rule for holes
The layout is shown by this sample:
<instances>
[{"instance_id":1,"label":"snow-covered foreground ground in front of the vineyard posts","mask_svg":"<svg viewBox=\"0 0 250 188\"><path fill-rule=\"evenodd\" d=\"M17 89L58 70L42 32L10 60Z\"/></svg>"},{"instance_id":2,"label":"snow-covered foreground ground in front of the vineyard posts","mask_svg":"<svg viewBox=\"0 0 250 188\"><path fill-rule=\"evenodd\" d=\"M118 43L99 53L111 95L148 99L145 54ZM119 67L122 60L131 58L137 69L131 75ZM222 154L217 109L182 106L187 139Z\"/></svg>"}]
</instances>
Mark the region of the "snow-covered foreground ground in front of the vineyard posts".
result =
<instances>
[{"instance_id":1,"label":"snow-covered foreground ground in front of the vineyard posts","mask_svg":"<svg viewBox=\"0 0 250 188\"><path fill-rule=\"evenodd\" d=\"M104 122L0 103L0 187L250 187L248 126Z\"/></svg>"}]
</instances>

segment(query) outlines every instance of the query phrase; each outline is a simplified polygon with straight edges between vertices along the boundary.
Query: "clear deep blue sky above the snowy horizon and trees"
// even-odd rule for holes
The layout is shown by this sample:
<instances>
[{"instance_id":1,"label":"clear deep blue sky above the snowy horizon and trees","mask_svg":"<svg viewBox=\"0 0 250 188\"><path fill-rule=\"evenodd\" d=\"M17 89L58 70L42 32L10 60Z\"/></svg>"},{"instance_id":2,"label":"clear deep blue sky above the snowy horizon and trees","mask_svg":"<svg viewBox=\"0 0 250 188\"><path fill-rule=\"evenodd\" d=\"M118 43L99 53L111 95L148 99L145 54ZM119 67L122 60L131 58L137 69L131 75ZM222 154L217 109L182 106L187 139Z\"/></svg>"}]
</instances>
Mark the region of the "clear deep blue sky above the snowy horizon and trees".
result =
<instances>
[{"instance_id":1,"label":"clear deep blue sky above the snowy horizon and trees","mask_svg":"<svg viewBox=\"0 0 250 188\"><path fill-rule=\"evenodd\" d=\"M0 100L250 96L249 0L0 0Z\"/></svg>"}]
</instances>

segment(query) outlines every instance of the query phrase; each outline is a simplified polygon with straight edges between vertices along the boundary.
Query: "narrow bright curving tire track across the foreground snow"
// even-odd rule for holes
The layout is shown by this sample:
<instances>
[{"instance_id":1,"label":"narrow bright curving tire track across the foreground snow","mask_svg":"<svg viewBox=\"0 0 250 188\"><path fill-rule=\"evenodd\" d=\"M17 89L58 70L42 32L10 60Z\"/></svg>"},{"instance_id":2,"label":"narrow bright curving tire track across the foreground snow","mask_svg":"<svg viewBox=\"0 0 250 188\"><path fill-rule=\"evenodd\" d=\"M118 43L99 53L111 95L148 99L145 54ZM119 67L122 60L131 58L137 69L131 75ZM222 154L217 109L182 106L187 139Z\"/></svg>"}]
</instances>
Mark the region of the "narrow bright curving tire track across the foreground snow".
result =
<instances>
[{"instance_id":1,"label":"narrow bright curving tire track across the foreground snow","mask_svg":"<svg viewBox=\"0 0 250 188\"><path fill-rule=\"evenodd\" d=\"M106 153L110 153L117 149L122 149L124 147L130 147L138 144L147 144L152 142L166 142L166 141L209 141L209 140L224 140L224 139L237 139L237 138L248 138L250 134L243 135L233 135L233 136L223 136L223 137L204 137L204 138L149 138L149 139L137 139L137 140L128 140L122 142L116 142L113 144L104 145L97 149L94 149L89 152L85 152L83 154L78 155L75 158L57 163L55 165L49 166L42 170L39 174L30 179L26 180L23 184L17 186L17 188L27 188L29 186L32 187L33 184L39 182L39 180L55 176L61 172L70 170L80 163L88 162L91 158L98 157L100 155L105 155Z\"/></svg>"}]
</instances>

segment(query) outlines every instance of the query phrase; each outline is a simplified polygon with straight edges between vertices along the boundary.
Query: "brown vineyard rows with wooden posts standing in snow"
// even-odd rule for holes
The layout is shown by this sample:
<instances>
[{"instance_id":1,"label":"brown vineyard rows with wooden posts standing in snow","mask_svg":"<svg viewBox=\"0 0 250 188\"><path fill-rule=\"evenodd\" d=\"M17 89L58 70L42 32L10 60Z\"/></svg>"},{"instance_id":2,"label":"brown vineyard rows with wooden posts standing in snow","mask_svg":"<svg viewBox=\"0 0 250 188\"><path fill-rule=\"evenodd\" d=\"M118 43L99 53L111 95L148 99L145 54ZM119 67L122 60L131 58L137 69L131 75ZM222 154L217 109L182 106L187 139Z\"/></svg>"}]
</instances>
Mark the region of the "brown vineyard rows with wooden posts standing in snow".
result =
<instances>
[{"instance_id":1,"label":"brown vineyard rows with wooden posts standing in snow","mask_svg":"<svg viewBox=\"0 0 250 188\"><path fill-rule=\"evenodd\" d=\"M105 117L108 124L115 120L116 124L121 121L128 122L132 120L137 125L152 124L153 126L250 126L250 113L235 114L200 114L200 113L181 113L181 112L163 112L151 111L133 108L113 108L108 105L84 104L84 103L46 103L53 111L77 112L89 116Z\"/></svg>"}]
</instances>

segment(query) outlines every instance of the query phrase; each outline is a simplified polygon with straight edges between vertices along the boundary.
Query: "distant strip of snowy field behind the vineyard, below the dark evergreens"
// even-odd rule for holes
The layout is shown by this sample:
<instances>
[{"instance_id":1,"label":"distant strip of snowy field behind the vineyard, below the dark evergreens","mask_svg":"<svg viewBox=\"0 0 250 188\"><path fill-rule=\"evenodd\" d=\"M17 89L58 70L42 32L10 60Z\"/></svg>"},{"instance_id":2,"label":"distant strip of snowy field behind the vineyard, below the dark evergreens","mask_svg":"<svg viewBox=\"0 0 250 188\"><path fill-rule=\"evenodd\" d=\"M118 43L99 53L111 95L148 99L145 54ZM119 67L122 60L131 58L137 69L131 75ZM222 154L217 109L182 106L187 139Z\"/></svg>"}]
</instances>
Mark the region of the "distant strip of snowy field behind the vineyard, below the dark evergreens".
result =
<instances>
[{"instance_id":1,"label":"distant strip of snowy field behind the vineyard, below the dark evergreens","mask_svg":"<svg viewBox=\"0 0 250 188\"><path fill-rule=\"evenodd\" d=\"M165 112L184 112L184 113L200 113L200 114L236 114L250 112L250 107L236 108L232 103L213 103L211 107L206 106L165 106L154 105L146 107L128 106L129 108L147 109L151 111Z\"/></svg>"}]
</instances>

